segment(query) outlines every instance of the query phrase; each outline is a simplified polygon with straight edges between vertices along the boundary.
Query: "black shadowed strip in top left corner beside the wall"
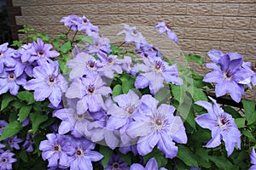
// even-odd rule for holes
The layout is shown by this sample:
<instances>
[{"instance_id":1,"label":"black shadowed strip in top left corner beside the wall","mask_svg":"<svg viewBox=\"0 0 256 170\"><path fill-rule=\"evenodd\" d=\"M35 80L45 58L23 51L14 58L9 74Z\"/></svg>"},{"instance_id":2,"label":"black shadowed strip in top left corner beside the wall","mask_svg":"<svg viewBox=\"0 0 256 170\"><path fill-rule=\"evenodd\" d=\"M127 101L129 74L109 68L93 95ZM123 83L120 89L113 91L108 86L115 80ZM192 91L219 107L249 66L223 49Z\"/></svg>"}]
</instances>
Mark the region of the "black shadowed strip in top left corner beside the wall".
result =
<instances>
[{"instance_id":1,"label":"black shadowed strip in top left corner beside the wall","mask_svg":"<svg viewBox=\"0 0 256 170\"><path fill-rule=\"evenodd\" d=\"M0 44L3 42L12 42L8 13L4 0L0 0L0 32Z\"/></svg>"}]
</instances>

